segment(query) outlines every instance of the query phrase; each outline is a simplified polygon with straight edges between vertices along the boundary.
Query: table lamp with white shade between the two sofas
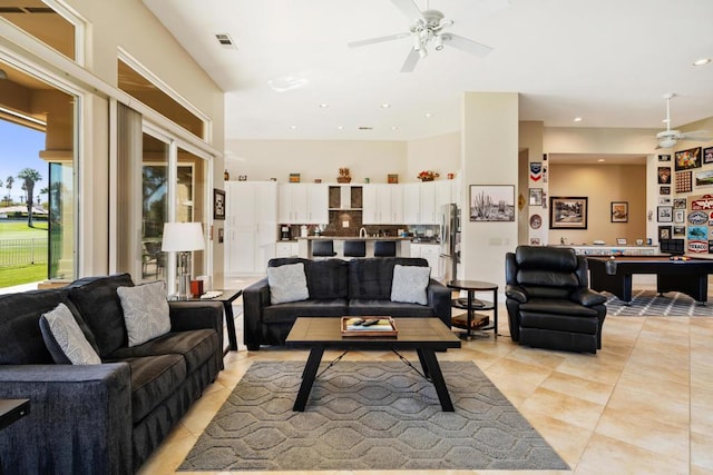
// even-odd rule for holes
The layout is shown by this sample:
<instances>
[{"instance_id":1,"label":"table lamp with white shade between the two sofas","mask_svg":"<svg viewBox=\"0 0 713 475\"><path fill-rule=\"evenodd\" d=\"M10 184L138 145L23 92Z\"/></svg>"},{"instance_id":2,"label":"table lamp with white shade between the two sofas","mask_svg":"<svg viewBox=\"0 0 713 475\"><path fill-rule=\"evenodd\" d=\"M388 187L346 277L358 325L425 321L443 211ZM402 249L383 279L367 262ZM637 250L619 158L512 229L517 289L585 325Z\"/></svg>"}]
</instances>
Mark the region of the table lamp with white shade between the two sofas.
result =
<instances>
[{"instance_id":1,"label":"table lamp with white shade between the two sofas","mask_svg":"<svg viewBox=\"0 0 713 475\"><path fill-rule=\"evenodd\" d=\"M201 222L164 222L164 240L160 250L178 254L178 299L186 300L191 288L191 253L203 250Z\"/></svg>"}]
</instances>

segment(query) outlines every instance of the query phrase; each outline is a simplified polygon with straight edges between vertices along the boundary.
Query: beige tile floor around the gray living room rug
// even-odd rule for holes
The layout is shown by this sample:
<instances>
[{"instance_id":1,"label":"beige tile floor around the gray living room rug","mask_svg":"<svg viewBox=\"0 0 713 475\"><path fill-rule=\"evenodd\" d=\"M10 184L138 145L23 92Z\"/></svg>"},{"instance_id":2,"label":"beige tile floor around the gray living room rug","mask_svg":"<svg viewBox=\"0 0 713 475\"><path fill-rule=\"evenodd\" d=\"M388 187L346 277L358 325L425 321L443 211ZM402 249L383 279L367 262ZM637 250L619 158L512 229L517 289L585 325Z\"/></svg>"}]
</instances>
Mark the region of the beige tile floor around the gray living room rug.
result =
<instances>
[{"instance_id":1,"label":"beige tile floor around the gray living room rug","mask_svg":"<svg viewBox=\"0 0 713 475\"><path fill-rule=\"evenodd\" d=\"M603 349L595 356L517 346L507 334L505 307L499 310L500 337L495 339L490 334L486 339L463 342L461 349L439 354L438 358L472 360L488 375L572 467L551 473L713 474L713 318L607 317ZM240 331L242 316L236 324ZM175 473L253 362L306 360L307 356L285 348L246 352L240 333L238 342L240 350L228 353L226 368L216 383L140 474ZM385 360L395 356L351 353L348 358ZM389 472L401 474L407 472Z\"/></svg>"}]
</instances>

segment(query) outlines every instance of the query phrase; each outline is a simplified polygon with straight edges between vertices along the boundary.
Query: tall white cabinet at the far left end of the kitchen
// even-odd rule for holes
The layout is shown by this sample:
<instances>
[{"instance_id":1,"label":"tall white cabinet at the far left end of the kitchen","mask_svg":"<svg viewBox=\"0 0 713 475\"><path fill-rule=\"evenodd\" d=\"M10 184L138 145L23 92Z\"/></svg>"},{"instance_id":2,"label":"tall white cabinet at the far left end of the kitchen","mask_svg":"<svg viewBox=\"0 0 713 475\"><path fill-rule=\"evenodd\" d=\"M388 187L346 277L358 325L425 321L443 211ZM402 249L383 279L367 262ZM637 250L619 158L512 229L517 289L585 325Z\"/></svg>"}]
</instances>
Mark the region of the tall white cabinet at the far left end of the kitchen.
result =
<instances>
[{"instance_id":1,"label":"tall white cabinet at the far left end of the kitchen","mask_svg":"<svg viewBox=\"0 0 713 475\"><path fill-rule=\"evenodd\" d=\"M225 182L225 275L262 274L275 256L277 184Z\"/></svg>"}]
</instances>

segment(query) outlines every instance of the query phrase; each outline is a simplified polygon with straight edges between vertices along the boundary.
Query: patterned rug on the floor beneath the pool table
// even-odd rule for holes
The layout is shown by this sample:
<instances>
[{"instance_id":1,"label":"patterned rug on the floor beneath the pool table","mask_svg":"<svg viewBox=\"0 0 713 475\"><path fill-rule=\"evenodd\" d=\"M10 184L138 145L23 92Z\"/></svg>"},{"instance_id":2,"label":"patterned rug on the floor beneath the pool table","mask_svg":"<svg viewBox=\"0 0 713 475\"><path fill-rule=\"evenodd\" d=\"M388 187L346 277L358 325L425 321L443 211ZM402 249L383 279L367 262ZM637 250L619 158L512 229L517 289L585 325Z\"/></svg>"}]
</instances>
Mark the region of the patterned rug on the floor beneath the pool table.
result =
<instances>
[{"instance_id":1,"label":"patterned rug on the floor beneath the pool table","mask_svg":"<svg viewBox=\"0 0 713 475\"><path fill-rule=\"evenodd\" d=\"M609 293L604 293L607 315L619 316L672 316L672 317L707 317L713 315L713 303L701 305L692 297L678 291L670 291L660 296L655 290L633 290L629 305L624 304Z\"/></svg>"}]
</instances>

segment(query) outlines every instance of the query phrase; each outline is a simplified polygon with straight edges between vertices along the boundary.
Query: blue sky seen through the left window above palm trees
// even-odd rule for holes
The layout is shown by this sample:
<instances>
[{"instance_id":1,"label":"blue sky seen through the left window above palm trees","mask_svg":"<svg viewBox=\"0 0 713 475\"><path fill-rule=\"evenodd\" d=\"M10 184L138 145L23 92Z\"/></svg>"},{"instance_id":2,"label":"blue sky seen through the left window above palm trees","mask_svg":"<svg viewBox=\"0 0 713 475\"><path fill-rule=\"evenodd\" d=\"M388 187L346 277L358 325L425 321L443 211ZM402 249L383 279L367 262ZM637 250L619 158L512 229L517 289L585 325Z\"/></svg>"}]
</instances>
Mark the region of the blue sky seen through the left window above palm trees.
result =
<instances>
[{"instance_id":1,"label":"blue sky seen through the left window above palm trees","mask_svg":"<svg viewBox=\"0 0 713 475\"><path fill-rule=\"evenodd\" d=\"M40 172L42 179L35 185L35 198L39 190L49 184L49 167L39 158L40 150L45 150L45 133L37 130L16 126L0 120L0 200L8 194L6 182L9 176L14 178L10 195L14 201L23 196L22 180L18 172L23 168L33 168ZM42 196L42 201L47 196Z\"/></svg>"}]
</instances>

